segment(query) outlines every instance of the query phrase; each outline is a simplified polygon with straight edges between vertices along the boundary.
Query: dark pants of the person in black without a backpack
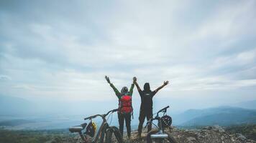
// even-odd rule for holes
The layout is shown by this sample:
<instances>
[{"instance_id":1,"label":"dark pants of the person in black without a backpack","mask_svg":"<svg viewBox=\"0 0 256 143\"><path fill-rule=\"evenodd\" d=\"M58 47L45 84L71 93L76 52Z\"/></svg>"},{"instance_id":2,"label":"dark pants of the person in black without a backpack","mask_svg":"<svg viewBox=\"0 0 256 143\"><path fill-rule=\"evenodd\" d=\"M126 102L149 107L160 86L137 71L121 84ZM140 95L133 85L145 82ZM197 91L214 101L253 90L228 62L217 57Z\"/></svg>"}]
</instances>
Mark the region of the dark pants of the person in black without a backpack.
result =
<instances>
[{"instance_id":1,"label":"dark pants of the person in black without a backpack","mask_svg":"<svg viewBox=\"0 0 256 143\"><path fill-rule=\"evenodd\" d=\"M140 110L140 117L139 117L139 120L140 120L140 124L139 124L139 127L138 127L138 133L139 134L142 134L142 126L143 126L143 123L145 121L145 117L147 117L147 121L150 120L150 118L153 117L153 113L152 113L152 110L150 111L143 111L143 110ZM152 128L152 124L149 124L147 126L147 132L150 132Z\"/></svg>"}]
</instances>

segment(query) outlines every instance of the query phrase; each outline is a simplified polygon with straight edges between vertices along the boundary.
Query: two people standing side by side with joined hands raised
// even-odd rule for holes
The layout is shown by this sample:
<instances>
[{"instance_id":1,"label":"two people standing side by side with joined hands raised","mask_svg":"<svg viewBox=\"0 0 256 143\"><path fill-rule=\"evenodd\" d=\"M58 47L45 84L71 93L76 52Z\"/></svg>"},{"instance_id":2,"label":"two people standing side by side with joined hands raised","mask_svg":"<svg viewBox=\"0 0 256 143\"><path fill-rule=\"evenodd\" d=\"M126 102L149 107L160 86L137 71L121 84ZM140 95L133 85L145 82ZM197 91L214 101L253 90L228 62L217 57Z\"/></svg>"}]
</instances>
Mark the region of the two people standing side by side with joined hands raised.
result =
<instances>
[{"instance_id":1,"label":"two people standing side by side with joined hands raised","mask_svg":"<svg viewBox=\"0 0 256 143\"><path fill-rule=\"evenodd\" d=\"M128 90L127 87L123 87L121 89L121 92L119 92L116 87L114 87L114 84L110 82L109 77L105 77L106 81L109 83L110 87L114 89L114 92L116 94L116 97L119 99L119 112L118 112L118 121L119 121L119 130L121 134L124 132L124 121L127 127L127 135L130 138L131 136L131 117L133 116L133 108L132 108L132 92L134 88L134 84L137 87L137 90L140 94L141 98L141 104L140 104L140 124L138 127L138 137L141 136L142 133L142 126L145 121L145 118L147 117L147 120L152 118L152 98L154 95L165 85L167 85L169 82L163 82L163 85L155 89L154 91L150 90L150 84L145 83L144 84L144 89L140 89L139 84L137 84L137 78L133 78L132 86ZM150 132L151 130L151 124L147 126L147 132Z\"/></svg>"}]
</instances>

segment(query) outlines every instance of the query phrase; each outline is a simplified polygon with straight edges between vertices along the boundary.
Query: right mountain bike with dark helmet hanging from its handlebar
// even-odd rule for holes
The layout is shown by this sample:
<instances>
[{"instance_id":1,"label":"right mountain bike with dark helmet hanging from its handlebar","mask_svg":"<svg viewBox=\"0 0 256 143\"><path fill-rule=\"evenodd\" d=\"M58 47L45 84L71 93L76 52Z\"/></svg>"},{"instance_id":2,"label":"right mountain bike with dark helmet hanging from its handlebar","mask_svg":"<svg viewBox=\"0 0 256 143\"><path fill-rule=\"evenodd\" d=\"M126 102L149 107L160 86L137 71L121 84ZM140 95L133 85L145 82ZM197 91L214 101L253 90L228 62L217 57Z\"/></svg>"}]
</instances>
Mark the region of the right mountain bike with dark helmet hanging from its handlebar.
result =
<instances>
[{"instance_id":1,"label":"right mountain bike with dark helmet hanging from its handlebar","mask_svg":"<svg viewBox=\"0 0 256 143\"><path fill-rule=\"evenodd\" d=\"M170 128L170 125L172 124L172 118L166 114L168 107L165 107L163 109L160 109L157 112L157 115L154 118L151 118L148 122L147 125L154 124L153 121L157 120L157 125L155 127L157 128L156 130L152 130L147 133L147 143L151 142L170 142L170 143L178 143L172 135L170 135L168 132L165 132L165 128ZM159 114L163 112L163 116L160 117Z\"/></svg>"}]
</instances>

